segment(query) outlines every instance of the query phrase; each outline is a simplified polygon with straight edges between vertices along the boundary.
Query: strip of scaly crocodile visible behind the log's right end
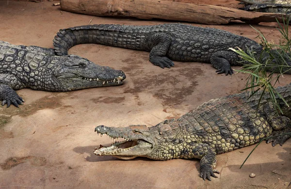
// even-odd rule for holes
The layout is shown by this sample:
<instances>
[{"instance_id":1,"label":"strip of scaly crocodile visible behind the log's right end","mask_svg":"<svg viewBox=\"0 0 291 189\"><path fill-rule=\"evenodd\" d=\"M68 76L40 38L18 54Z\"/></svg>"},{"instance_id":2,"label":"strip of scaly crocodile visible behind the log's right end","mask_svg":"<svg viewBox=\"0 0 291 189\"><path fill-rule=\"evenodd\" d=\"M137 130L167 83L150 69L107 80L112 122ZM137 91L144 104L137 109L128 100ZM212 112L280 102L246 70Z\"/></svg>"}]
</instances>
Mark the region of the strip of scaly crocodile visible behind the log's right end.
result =
<instances>
[{"instance_id":1,"label":"strip of scaly crocodile visible behind the log's right end","mask_svg":"<svg viewBox=\"0 0 291 189\"><path fill-rule=\"evenodd\" d=\"M252 4L245 5L243 10L263 13L291 14L291 4Z\"/></svg>"}]
</instances>

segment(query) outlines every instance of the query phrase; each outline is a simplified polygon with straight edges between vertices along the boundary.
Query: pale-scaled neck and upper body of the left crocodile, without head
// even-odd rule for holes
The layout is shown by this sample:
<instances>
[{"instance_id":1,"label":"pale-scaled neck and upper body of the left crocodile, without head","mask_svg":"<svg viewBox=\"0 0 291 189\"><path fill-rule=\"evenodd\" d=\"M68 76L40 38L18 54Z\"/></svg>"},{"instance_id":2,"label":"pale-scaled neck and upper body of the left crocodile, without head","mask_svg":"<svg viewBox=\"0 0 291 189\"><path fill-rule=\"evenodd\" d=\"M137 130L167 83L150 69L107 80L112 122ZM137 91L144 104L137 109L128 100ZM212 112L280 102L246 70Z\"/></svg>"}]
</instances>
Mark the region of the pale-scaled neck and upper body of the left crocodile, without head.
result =
<instances>
[{"instance_id":1,"label":"pale-scaled neck and upper body of the left crocodile, without head","mask_svg":"<svg viewBox=\"0 0 291 189\"><path fill-rule=\"evenodd\" d=\"M1 60L2 59L2 60ZM15 80L14 89L30 87L35 90L63 91L61 83L53 77L57 62L65 57L47 56L16 47L1 48L0 80ZM9 75L9 76L8 76Z\"/></svg>"}]
</instances>

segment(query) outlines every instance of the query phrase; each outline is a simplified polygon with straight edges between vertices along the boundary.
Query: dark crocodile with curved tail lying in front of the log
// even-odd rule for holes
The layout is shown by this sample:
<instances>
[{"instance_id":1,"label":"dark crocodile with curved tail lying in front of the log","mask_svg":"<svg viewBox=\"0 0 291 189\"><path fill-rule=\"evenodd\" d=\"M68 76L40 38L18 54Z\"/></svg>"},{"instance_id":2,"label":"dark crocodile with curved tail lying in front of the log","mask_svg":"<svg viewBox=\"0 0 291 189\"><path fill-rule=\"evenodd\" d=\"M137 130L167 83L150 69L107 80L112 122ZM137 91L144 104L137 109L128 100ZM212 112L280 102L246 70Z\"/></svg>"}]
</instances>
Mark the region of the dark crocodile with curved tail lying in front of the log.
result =
<instances>
[{"instance_id":1,"label":"dark crocodile with curved tail lying in front of the log","mask_svg":"<svg viewBox=\"0 0 291 189\"><path fill-rule=\"evenodd\" d=\"M149 61L162 68L174 66L173 61L211 63L218 74L226 75L233 74L230 65L243 65L229 47L252 49L262 61L269 57L267 53L261 56L263 47L249 38L186 24L77 26L61 29L53 40L58 55L67 55L70 47L85 43L148 51ZM290 58L287 61L290 65Z\"/></svg>"}]
</instances>

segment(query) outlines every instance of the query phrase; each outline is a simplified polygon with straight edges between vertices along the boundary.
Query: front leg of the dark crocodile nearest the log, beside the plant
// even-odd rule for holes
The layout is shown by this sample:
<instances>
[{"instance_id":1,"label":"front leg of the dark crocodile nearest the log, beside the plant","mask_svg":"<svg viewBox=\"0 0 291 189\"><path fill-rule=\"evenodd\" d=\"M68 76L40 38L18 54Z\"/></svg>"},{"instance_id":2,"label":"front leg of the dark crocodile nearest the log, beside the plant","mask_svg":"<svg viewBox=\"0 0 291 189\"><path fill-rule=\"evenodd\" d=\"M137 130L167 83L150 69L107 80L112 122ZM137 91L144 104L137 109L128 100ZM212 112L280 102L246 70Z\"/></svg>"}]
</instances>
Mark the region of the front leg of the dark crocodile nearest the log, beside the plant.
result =
<instances>
[{"instance_id":1,"label":"front leg of the dark crocodile nearest the log, beside the plant","mask_svg":"<svg viewBox=\"0 0 291 189\"><path fill-rule=\"evenodd\" d=\"M215 67L218 74L225 73L232 75L233 70L230 67L230 64L235 65L238 61L238 57L234 52L231 51L217 51L213 53L210 57L210 63Z\"/></svg>"}]
</instances>

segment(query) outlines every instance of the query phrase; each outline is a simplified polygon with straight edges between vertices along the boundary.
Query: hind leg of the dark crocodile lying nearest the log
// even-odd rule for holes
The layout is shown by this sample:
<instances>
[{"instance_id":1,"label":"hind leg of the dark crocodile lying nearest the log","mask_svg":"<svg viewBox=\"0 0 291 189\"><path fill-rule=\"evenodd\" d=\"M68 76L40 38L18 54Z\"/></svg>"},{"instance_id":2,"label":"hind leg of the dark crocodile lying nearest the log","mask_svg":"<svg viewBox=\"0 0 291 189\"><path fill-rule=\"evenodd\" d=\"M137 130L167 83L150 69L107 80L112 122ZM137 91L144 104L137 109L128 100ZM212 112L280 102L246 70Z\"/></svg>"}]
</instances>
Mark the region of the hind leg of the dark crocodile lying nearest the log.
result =
<instances>
[{"instance_id":1,"label":"hind leg of the dark crocodile lying nearest the log","mask_svg":"<svg viewBox=\"0 0 291 189\"><path fill-rule=\"evenodd\" d=\"M170 35L160 32L147 36L146 41L151 49L149 53L151 63L161 68L174 66L173 61L166 57L172 41Z\"/></svg>"}]
</instances>

